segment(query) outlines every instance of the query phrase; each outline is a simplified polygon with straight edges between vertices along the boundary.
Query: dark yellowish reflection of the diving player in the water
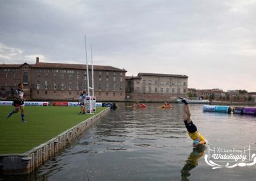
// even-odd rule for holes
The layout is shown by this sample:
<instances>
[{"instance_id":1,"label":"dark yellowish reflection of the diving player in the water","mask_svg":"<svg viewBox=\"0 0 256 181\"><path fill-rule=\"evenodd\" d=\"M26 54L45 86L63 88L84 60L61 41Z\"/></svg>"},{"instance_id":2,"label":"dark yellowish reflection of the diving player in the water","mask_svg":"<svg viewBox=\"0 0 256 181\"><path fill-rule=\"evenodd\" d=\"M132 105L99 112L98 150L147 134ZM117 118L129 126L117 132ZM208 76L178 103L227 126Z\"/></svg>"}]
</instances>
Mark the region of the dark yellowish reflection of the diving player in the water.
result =
<instances>
[{"instance_id":1,"label":"dark yellowish reflection of the diving player in the water","mask_svg":"<svg viewBox=\"0 0 256 181\"><path fill-rule=\"evenodd\" d=\"M193 152L189 154L186 164L180 171L182 180L188 180L190 173L189 171L198 166L198 159L204 156L205 146L193 148Z\"/></svg>"}]
</instances>

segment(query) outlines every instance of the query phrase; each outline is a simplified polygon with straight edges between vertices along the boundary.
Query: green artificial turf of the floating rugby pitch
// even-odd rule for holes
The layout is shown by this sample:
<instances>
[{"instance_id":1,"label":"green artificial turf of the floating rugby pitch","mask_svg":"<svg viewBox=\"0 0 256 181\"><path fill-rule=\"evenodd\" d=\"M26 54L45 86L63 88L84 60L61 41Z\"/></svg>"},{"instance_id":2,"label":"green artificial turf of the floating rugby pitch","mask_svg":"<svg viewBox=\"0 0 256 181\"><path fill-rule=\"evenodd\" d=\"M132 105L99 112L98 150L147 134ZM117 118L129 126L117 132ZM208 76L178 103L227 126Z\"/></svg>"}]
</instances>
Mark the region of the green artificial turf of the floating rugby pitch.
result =
<instances>
[{"instance_id":1,"label":"green artificial turf of the floating rugby pitch","mask_svg":"<svg viewBox=\"0 0 256 181\"><path fill-rule=\"evenodd\" d=\"M97 113L105 108L97 108ZM26 106L25 120L19 113L10 118L13 106L0 106L0 154L21 154L51 140L92 115L78 115L79 107ZM95 114L94 114L95 115Z\"/></svg>"}]
</instances>

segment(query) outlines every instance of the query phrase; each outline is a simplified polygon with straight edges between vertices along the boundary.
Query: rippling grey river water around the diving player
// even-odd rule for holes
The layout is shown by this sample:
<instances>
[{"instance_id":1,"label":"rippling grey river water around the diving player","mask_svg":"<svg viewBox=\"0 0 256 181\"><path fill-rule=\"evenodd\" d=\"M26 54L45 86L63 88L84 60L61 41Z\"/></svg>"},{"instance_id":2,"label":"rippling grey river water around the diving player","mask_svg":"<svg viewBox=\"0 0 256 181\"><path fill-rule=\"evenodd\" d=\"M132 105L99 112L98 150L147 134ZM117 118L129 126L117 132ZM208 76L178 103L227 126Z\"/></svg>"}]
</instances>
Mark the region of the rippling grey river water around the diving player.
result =
<instances>
[{"instance_id":1,"label":"rippling grey river water around the diving player","mask_svg":"<svg viewBox=\"0 0 256 181\"><path fill-rule=\"evenodd\" d=\"M183 105L128 108L118 103L60 154L26 176L6 180L256 180L256 117L202 112L203 105L190 105L191 119L207 139L194 148L183 122ZM222 150L222 151L221 151ZM226 151L225 151L226 150ZM215 151L215 152L214 152ZM245 152L244 152L245 151ZM239 154L246 160L212 160L205 155ZM256 161L256 159L255 159Z\"/></svg>"}]
</instances>

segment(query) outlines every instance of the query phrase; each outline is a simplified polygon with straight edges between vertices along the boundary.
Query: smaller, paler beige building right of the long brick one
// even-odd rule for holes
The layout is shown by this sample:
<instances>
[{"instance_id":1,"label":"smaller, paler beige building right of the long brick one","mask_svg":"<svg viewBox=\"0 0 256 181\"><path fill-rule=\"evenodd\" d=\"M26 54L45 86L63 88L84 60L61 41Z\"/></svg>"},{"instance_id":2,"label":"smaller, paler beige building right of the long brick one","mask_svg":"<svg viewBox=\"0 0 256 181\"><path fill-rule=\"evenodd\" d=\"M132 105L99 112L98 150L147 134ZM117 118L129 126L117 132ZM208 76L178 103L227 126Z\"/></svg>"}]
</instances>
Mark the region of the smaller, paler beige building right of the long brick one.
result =
<instances>
[{"instance_id":1,"label":"smaller, paler beige building right of the long brick one","mask_svg":"<svg viewBox=\"0 0 256 181\"><path fill-rule=\"evenodd\" d=\"M188 97L188 76L138 73L126 77L126 98L141 101L176 101Z\"/></svg>"}]
</instances>

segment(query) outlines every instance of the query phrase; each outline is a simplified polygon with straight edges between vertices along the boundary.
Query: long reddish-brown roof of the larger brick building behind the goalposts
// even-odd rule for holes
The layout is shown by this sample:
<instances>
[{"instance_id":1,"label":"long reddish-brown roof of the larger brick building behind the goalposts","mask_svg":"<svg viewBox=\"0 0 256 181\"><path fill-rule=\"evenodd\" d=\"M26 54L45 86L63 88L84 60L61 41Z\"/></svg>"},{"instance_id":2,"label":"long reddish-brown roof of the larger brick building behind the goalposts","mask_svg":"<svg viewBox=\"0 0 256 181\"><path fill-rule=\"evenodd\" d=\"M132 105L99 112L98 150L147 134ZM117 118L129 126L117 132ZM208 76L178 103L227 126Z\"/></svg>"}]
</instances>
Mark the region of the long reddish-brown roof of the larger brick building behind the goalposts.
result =
<instances>
[{"instance_id":1,"label":"long reddish-brown roof of the larger brick building behind the goalposts","mask_svg":"<svg viewBox=\"0 0 256 181\"><path fill-rule=\"evenodd\" d=\"M26 64L26 63L25 63ZM23 64L0 64L0 68L19 68ZM60 64L60 63L47 63L47 62L36 62L36 64L28 64L31 68L63 68L63 69L86 69L85 64ZM92 69L92 66L88 66ZM93 65L94 70L102 71L124 71L125 69L114 68L112 66L98 66Z\"/></svg>"}]
</instances>

